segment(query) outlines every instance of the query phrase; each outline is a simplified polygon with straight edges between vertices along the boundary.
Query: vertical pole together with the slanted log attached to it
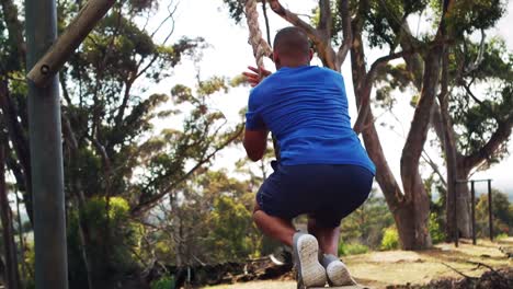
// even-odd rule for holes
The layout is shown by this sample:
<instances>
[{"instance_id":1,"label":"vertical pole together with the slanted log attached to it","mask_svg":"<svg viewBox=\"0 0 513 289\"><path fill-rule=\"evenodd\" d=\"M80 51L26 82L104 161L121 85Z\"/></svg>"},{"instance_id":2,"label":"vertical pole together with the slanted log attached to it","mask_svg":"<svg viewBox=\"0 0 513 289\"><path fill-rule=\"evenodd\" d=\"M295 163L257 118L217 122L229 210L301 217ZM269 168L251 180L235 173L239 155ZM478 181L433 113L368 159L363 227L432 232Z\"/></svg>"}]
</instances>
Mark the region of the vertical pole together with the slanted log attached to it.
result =
<instances>
[{"instance_id":1,"label":"vertical pole together with the slanted log attached to it","mask_svg":"<svg viewBox=\"0 0 513 289\"><path fill-rule=\"evenodd\" d=\"M89 0L57 38L56 0L25 0L37 289L68 289L58 71L115 0Z\"/></svg>"}]
</instances>

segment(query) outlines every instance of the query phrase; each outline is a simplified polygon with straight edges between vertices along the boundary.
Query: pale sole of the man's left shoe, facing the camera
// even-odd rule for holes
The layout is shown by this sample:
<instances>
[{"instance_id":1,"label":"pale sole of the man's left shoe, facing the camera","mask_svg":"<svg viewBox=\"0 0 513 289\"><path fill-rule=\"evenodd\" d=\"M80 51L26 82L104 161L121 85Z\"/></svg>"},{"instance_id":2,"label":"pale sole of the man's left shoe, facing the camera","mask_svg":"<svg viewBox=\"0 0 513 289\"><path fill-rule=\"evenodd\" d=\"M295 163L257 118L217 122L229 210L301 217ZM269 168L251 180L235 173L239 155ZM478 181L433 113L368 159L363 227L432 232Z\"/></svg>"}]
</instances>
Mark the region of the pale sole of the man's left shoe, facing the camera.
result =
<instances>
[{"instance_id":1,"label":"pale sole of the man's left shoe, facing the camera","mask_svg":"<svg viewBox=\"0 0 513 289\"><path fill-rule=\"evenodd\" d=\"M327 282L326 269L319 263L319 244L312 235L301 235L297 240L294 254L298 261L298 278L308 287L324 287Z\"/></svg>"}]
</instances>

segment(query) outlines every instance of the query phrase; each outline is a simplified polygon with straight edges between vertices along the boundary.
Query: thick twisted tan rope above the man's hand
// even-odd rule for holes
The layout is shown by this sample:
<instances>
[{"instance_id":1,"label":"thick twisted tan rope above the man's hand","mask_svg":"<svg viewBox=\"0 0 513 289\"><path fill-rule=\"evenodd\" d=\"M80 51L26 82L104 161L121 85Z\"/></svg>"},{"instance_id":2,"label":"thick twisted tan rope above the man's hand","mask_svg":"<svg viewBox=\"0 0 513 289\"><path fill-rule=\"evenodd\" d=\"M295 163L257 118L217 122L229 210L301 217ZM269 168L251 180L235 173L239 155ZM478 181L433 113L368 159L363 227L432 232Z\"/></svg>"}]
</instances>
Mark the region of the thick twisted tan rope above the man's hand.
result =
<instances>
[{"instance_id":1,"label":"thick twisted tan rope above the man's hand","mask_svg":"<svg viewBox=\"0 0 513 289\"><path fill-rule=\"evenodd\" d=\"M249 42L253 47L253 55L256 59L256 66L264 67L263 58L272 55L272 49L267 42L262 37L259 24L259 12L256 11L256 0L246 1L246 19L250 31Z\"/></svg>"}]
</instances>

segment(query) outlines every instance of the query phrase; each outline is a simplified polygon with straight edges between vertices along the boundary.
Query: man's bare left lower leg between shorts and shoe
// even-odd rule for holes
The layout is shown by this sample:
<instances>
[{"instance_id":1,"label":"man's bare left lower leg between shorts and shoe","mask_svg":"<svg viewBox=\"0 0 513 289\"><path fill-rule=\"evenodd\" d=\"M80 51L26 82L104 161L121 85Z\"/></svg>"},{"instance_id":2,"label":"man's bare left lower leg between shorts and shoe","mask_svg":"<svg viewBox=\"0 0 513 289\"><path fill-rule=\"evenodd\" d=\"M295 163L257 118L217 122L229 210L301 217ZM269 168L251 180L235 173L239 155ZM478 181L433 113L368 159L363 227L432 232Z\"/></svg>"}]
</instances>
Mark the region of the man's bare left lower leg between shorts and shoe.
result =
<instances>
[{"instance_id":1,"label":"man's bare left lower leg between shorts and shoe","mask_svg":"<svg viewBox=\"0 0 513 289\"><path fill-rule=\"evenodd\" d=\"M296 229L294 228L292 220L285 220L277 217L273 217L263 211L256 203L253 210L253 220L264 234L282 242L287 246L293 246L294 234Z\"/></svg>"}]
</instances>

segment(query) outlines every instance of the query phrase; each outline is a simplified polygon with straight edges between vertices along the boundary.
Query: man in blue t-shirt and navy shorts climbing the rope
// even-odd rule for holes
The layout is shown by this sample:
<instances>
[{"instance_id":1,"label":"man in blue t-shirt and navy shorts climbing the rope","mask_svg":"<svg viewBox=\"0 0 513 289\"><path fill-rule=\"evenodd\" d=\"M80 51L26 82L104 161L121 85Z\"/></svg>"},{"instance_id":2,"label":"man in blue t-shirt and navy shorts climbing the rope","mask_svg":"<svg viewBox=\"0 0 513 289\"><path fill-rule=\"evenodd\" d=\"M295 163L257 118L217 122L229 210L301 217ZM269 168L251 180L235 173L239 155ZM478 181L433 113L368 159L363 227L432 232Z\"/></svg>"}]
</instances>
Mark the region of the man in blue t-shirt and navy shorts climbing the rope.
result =
<instances>
[{"instance_id":1,"label":"man in blue t-shirt and navy shorts climbing the rope","mask_svg":"<svg viewBox=\"0 0 513 289\"><path fill-rule=\"evenodd\" d=\"M252 161L262 158L269 131L281 158L256 194L253 219L267 235L293 247L306 287L351 285L338 257L340 222L371 192L375 166L351 128L342 76L310 66L307 35L297 27L274 39L276 72L244 72L254 86L246 115L243 146ZM258 72L267 76L261 81ZM308 215L308 232L292 220ZM319 253L320 248L320 253Z\"/></svg>"}]
</instances>

